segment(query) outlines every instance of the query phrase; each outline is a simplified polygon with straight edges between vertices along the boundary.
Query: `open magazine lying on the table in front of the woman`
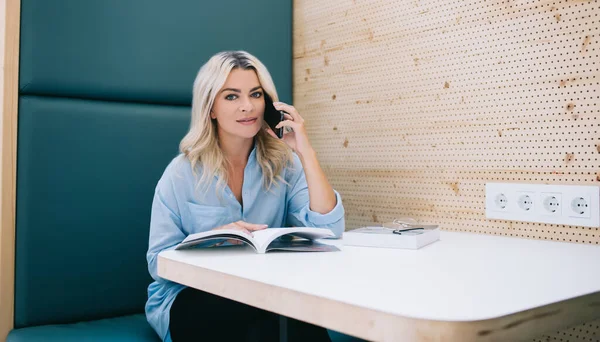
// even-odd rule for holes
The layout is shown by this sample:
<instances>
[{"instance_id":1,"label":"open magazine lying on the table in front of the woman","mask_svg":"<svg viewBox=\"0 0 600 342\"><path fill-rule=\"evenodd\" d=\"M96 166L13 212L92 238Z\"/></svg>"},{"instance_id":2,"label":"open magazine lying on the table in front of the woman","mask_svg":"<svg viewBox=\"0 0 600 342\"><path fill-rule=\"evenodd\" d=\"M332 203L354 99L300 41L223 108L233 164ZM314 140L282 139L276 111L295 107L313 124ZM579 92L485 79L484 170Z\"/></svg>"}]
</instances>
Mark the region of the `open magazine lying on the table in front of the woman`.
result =
<instances>
[{"instance_id":1,"label":"open magazine lying on the table in front of the woman","mask_svg":"<svg viewBox=\"0 0 600 342\"><path fill-rule=\"evenodd\" d=\"M311 227L267 228L254 231L251 234L235 229L218 229L190 234L175 249L193 247L210 240L233 239L252 246L257 253L266 253L272 250L297 252L339 251L336 246L316 241L317 239L334 236L329 229Z\"/></svg>"}]
</instances>

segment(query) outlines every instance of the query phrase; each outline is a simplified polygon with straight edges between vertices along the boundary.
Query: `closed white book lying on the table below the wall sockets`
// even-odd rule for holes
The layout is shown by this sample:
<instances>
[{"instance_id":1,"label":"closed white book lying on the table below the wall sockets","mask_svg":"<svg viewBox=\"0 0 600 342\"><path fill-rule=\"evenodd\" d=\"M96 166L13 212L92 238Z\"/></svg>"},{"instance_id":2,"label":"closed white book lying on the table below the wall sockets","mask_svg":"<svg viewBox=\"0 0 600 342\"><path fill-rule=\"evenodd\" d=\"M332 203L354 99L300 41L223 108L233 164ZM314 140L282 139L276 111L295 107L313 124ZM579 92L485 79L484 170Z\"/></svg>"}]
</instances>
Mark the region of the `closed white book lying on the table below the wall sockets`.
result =
<instances>
[{"instance_id":1,"label":"closed white book lying on the table below the wall sockets","mask_svg":"<svg viewBox=\"0 0 600 342\"><path fill-rule=\"evenodd\" d=\"M364 227L344 233L345 246L363 246L379 248L419 249L440 239L439 228L421 231L393 233L393 229L384 227Z\"/></svg>"}]
</instances>

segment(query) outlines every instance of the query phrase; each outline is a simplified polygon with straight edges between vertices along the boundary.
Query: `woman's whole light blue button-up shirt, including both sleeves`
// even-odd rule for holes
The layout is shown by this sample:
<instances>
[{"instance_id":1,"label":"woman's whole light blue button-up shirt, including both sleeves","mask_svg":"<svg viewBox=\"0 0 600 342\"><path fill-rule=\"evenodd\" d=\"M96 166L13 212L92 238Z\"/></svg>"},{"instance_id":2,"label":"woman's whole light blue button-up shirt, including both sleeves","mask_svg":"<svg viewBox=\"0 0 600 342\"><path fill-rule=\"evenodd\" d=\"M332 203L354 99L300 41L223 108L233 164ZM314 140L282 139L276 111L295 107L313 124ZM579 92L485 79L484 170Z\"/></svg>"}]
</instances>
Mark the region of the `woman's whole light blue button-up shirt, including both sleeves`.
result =
<instances>
[{"instance_id":1,"label":"woman's whole light blue button-up shirt, including both sleeves","mask_svg":"<svg viewBox=\"0 0 600 342\"><path fill-rule=\"evenodd\" d=\"M146 317L167 342L171 341L169 311L175 296L185 286L157 275L158 253L175 248L189 234L239 220L269 227L329 228L337 237L344 231L344 207L337 191L337 203L331 212L319 214L310 210L306 177L296 154L293 167L285 168L281 174L289 185L280 183L265 191L256 149L252 150L244 170L243 208L227 186L221 191L221 198L217 196L216 177L208 191L202 194L202 187L196 187L201 174L202 169L197 166L195 176L187 158L179 155L167 166L154 193L146 255L154 282L148 286Z\"/></svg>"}]
</instances>

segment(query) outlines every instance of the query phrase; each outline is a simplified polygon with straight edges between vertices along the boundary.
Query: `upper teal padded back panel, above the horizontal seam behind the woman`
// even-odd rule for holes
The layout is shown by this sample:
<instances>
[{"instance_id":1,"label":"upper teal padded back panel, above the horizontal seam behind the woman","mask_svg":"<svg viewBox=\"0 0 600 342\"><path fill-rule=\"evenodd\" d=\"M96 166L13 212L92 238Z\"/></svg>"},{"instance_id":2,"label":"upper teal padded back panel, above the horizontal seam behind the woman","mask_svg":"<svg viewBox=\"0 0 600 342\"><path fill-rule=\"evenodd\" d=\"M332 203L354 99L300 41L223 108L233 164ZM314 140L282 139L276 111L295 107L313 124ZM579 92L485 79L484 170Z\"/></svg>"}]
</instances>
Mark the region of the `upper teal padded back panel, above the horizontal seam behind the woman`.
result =
<instances>
[{"instance_id":1,"label":"upper teal padded back panel, above the horizontal seam behind the woman","mask_svg":"<svg viewBox=\"0 0 600 342\"><path fill-rule=\"evenodd\" d=\"M292 1L22 0L24 94L189 104L200 66L246 50L292 94Z\"/></svg>"}]
</instances>

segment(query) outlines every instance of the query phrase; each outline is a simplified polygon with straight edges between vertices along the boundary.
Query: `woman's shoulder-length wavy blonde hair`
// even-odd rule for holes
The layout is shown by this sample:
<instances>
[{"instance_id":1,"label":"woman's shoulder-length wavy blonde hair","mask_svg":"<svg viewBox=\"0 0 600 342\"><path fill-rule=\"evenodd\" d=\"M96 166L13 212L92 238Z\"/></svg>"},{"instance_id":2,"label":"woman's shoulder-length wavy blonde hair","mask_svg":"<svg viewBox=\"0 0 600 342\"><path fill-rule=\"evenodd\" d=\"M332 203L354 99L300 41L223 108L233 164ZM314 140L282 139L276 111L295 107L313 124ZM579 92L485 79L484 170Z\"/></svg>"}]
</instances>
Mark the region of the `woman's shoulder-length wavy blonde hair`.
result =
<instances>
[{"instance_id":1,"label":"woman's shoulder-length wavy blonde hair","mask_svg":"<svg viewBox=\"0 0 600 342\"><path fill-rule=\"evenodd\" d=\"M202 165L202 176L197 186L208 189L212 178L217 176L217 190L227 184L227 166L229 161L223 154L218 142L217 123L211 120L210 111L215 97L225 84L231 70L240 68L254 70L263 91L273 101L278 101L277 91L267 68L254 56L245 51L225 51L214 55L204 64L196 80L192 98L192 118L190 130L181 140L179 150L191 163L192 170ZM268 125L263 121L263 128ZM269 135L264 129L255 136L256 160L263 172L263 186L270 190L278 180L283 169L293 162L290 148L279 139ZM195 172L194 172L195 175Z\"/></svg>"}]
</instances>

